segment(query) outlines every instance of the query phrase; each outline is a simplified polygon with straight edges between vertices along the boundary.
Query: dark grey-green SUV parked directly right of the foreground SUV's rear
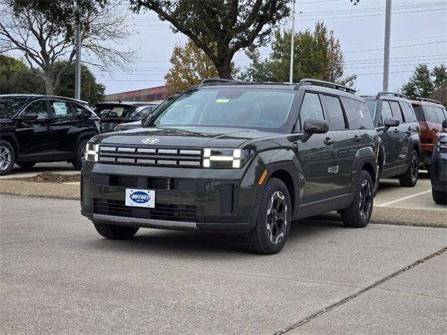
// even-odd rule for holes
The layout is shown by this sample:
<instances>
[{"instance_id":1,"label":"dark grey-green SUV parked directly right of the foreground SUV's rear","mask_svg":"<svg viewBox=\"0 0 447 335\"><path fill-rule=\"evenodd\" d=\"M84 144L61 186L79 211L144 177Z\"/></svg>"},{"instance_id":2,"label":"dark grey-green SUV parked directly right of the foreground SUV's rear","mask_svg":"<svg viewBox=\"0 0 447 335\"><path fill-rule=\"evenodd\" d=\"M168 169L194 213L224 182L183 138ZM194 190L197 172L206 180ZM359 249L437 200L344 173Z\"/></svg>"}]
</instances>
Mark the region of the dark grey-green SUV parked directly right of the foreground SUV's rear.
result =
<instances>
[{"instance_id":1,"label":"dark grey-green SUV parked directly right of the foreground SUV's rear","mask_svg":"<svg viewBox=\"0 0 447 335\"><path fill-rule=\"evenodd\" d=\"M380 178L398 176L402 186L415 186L419 171L420 131L411 102L406 96L392 92L362 98L381 140Z\"/></svg>"}]
</instances>

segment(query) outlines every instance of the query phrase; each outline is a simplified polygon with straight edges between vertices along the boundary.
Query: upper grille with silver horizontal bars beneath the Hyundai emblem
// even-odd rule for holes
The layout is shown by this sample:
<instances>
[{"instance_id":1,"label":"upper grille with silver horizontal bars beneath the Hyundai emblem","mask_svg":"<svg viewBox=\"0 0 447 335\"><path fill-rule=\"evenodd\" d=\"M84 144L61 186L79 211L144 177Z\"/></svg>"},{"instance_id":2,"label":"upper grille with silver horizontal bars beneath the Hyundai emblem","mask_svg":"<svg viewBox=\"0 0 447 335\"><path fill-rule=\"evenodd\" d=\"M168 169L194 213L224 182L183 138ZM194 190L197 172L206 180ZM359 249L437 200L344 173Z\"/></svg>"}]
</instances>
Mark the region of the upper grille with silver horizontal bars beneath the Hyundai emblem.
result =
<instances>
[{"instance_id":1,"label":"upper grille with silver horizontal bars beneath the Hyundai emblem","mask_svg":"<svg viewBox=\"0 0 447 335\"><path fill-rule=\"evenodd\" d=\"M200 168L201 160L201 149L117 147L114 145L99 147L100 163Z\"/></svg>"}]
</instances>

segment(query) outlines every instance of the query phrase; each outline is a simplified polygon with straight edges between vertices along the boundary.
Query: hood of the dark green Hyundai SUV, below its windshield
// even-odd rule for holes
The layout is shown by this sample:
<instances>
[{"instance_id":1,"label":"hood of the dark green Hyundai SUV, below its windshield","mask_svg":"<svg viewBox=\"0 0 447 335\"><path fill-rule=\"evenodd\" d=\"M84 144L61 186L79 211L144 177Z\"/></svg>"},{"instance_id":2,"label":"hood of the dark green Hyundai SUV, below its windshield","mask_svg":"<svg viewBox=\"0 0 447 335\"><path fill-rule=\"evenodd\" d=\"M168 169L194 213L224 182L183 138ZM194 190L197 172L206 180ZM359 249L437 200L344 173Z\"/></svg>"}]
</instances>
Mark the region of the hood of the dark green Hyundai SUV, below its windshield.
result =
<instances>
[{"instance_id":1,"label":"hood of the dark green Hyundai SUV, below its windshield","mask_svg":"<svg viewBox=\"0 0 447 335\"><path fill-rule=\"evenodd\" d=\"M161 147L240 147L248 140L278 135L256 129L226 127L138 128L98 135L95 142L144 145L142 140L156 138Z\"/></svg>"}]
</instances>

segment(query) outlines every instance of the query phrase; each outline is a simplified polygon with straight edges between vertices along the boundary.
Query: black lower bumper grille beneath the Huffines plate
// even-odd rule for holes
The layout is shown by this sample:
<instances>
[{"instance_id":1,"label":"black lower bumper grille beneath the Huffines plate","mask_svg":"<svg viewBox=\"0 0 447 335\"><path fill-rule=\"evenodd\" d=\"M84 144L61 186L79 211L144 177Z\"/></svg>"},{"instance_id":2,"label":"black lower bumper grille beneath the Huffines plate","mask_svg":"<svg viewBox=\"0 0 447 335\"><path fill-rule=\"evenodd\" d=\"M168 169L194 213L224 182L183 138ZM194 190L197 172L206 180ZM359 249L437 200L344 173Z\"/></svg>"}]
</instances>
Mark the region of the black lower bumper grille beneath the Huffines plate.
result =
<instances>
[{"instance_id":1,"label":"black lower bumper grille beneath the Huffines plate","mask_svg":"<svg viewBox=\"0 0 447 335\"><path fill-rule=\"evenodd\" d=\"M94 214L196 222L196 212L196 206L156 204L155 208L140 208L128 207L124 201L119 200L94 199Z\"/></svg>"}]
</instances>

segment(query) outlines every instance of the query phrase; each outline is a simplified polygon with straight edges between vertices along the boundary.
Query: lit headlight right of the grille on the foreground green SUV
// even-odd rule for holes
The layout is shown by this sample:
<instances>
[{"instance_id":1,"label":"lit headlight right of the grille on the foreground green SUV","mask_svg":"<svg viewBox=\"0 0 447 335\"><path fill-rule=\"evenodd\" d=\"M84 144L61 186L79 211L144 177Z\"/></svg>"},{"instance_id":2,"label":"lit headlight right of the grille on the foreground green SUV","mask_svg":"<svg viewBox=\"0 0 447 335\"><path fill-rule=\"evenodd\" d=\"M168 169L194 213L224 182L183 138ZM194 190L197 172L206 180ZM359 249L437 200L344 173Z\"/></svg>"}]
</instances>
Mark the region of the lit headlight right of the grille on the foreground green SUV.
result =
<instances>
[{"instance_id":1,"label":"lit headlight right of the grille on the foreground green SUV","mask_svg":"<svg viewBox=\"0 0 447 335\"><path fill-rule=\"evenodd\" d=\"M251 149L203 149L203 168L239 169L244 166L254 151Z\"/></svg>"}]
</instances>

